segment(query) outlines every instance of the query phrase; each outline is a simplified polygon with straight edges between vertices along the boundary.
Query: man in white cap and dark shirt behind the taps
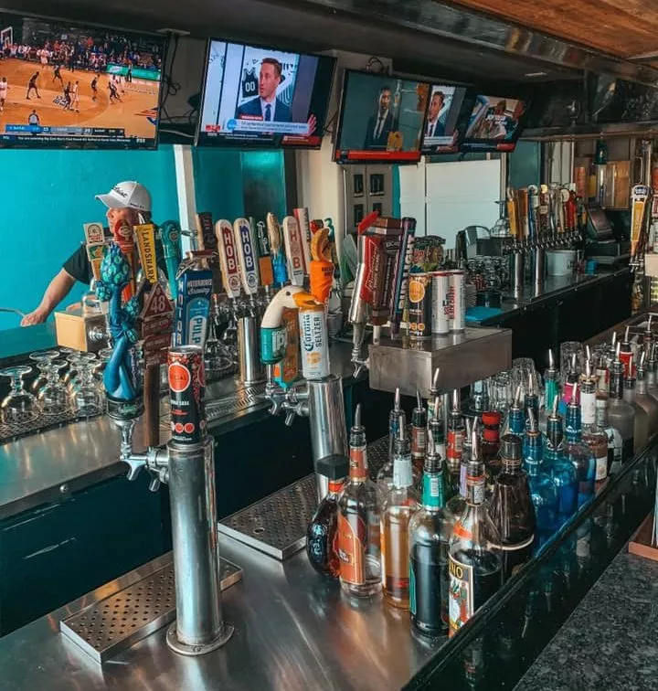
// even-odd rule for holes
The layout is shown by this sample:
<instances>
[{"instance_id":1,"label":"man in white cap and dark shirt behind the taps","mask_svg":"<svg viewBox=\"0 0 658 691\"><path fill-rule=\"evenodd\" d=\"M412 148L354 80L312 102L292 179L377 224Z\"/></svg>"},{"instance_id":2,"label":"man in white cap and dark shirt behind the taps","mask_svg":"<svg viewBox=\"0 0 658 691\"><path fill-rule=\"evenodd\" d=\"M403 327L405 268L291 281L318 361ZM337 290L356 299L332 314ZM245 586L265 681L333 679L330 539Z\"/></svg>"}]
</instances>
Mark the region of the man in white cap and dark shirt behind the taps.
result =
<instances>
[{"instance_id":1,"label":"man in white cap and dark shirt behind the taps","mask_svg":"<svg viewBox=\"0 0 658 691\"><path fill-rule=\"evenodd\" d=\"M151 195L146 187L138 182L120 182L106 195L96 195L96 198L107 207L105 216L110 228L114 228L114 225L121 220L125 220L130 226L148 223L151 220ZM105 231L108 235L108 229ZM49 282L37 309L23 317L21 326L45 322L48 315L69 294L76 281L89 285L92 277L87 247L81 244Z\"/></svg>"}]
</instances>

